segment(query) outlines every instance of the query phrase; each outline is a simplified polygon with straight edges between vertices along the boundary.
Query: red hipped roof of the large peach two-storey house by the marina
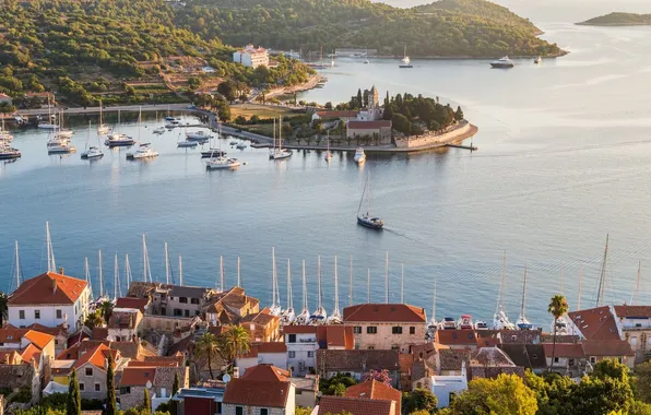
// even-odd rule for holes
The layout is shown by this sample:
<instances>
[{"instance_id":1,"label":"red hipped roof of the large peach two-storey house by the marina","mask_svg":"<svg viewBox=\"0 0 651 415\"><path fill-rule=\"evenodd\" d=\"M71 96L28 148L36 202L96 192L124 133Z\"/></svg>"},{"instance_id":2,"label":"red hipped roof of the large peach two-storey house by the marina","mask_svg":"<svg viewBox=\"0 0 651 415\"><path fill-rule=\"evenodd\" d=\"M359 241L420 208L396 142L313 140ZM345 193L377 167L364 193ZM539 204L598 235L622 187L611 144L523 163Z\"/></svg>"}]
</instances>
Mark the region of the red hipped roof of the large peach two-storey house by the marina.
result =
<instances>
[{"instance_id":1,"label":"red hipped roof of the large peach two-storey house by the marina","mask_svg":"<svg viewBox=\"0 0 651 415\"><path fill-rule=\"evenodd\" d=\"M344 308L344 322L425 323L425 309L406 304L360 304Z\"/></svg>"}]
</instances>

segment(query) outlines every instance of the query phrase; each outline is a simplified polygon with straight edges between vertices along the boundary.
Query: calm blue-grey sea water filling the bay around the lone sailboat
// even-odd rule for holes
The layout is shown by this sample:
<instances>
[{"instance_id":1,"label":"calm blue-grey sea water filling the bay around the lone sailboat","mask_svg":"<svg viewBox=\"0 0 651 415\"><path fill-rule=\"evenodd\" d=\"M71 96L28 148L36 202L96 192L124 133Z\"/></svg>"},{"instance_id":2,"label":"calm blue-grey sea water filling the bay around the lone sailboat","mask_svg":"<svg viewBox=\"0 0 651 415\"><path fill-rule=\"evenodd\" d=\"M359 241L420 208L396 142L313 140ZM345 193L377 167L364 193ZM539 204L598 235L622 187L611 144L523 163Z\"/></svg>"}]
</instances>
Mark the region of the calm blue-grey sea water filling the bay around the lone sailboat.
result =
<instances>
[{"instance_id":1,"label":"calm blue-grey sea water filling the bay around the lone sailboat","mask_svg":"<svg viewBox=\"0 0 651 415\"><path fill-rule=\"evenodd\" d=\"M45 133L16 132L23 157L0 166L0 285L12 285L15 239L25 276L44 271L49 221L57 264L71 275L83 276L88 257L96 277L102 249L109 280L115 253L121 274L129 253L134 277L142 278L144 233L154 278L165 278L165 241L175 274L182 253L188 284L214 284L220 256L226 281L234 284L241 257L247 292L268 303L275 246L283 303L288 258L299 307L305 259L309 304L316 307L320 253L323 301L331 310L334 256L344 306L348 256L354 261L353 299L366 300L370 269L371 299L382 301L388 251L392 301L400 300L404 263L406 301L430 310L437 281L437 316L470 312L490 320L506 251L507 310L514 320L526 264L528 315L547 328L545 310L553 294L563 289L576 308L581 271L581 305L594 304L609 234L606 300L629 300L640 260L640 300L651 300L651 102L646 94L651 91L651 28L573 26L568 22L580 19L571 13L552 19L545 10L540 24L545 37L571 51L561 59L542 66L518 61L509 71L490 70L487 60L414 61L415 68L405 71L396 61L343 59L324 71L324 88L301 96L342 102L372 84L381 94L439 96L462 105L480 127L474 139L480 151L472 154L451 150L374 156L359 168L352 154L335 154L330 164L318 152L270 162L264 150L238 152L224 142L247 165L238 171L205 171L197 151L176 149L179 131L151 134L162 124L153 118L141 129L141 138L161 153L152 162L128 162L125 150L106 150L95 163L81 161L79 153L48 156ZM524 15L535 21L535 12ZM73 141L81 152L87 120L74 122ZM123 130L138 135L133 121ZM355 224L367 171L372 212L387 222L381 233Z\"/></svg>"}]
</instances>

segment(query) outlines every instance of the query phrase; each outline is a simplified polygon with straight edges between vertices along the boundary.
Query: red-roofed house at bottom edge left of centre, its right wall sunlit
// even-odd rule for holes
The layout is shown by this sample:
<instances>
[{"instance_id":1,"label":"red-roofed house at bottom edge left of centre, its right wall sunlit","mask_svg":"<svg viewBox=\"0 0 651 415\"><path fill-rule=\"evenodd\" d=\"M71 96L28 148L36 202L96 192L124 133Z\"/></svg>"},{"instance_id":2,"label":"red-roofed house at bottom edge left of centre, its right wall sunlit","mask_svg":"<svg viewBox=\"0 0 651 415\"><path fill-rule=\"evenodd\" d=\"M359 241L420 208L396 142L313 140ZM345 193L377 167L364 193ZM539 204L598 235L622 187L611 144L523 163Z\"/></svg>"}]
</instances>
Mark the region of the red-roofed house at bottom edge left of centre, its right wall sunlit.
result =
<instances>
[{"instance_id":1,"label":"red-roofed house at bottom edge left of centre, its right wall sunlit","mask_svg":"<svg viewBox=\"0 0 651 415\"><path fill-rule=\"evenodd\" d=\"M226 384L223 414L294 415L296 387L289 372L271 365L249 368L241 378Z\"/></svg>"}]
</instances>

